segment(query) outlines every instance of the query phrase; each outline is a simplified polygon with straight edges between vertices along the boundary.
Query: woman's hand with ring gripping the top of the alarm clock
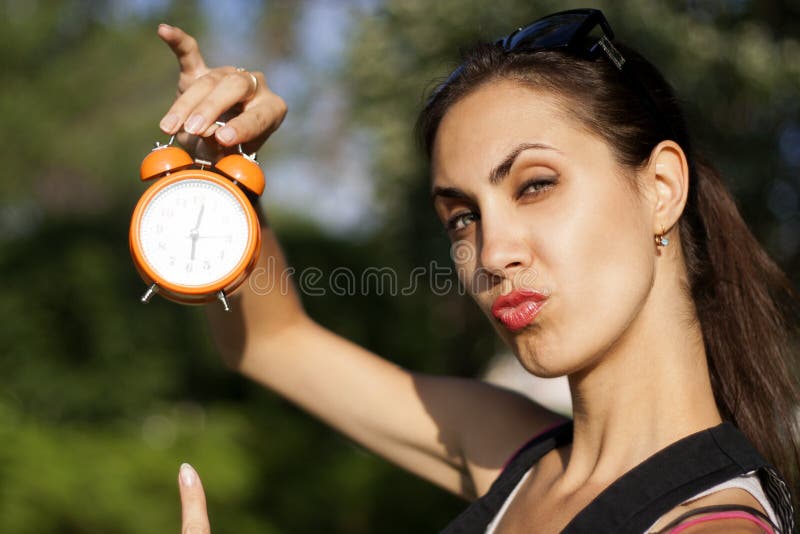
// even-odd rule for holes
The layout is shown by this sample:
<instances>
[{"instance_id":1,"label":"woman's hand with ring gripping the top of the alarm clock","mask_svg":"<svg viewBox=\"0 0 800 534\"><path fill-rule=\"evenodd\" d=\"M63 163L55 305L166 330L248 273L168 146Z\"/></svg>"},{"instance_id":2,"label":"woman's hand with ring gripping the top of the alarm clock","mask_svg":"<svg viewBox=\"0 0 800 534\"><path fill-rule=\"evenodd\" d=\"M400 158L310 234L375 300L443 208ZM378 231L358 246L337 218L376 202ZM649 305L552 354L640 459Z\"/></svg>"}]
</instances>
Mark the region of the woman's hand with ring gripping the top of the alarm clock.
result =
<instances>
[{"instance_id":1,"label":"woman's hand with ring gripping the top of the alarm clock","mask_svg":"<svg viewBox=\"0 0 800 534\"><path fill-rule=\"evenodd\" d=\"M196 154L239 143L247 152L258 150L286 116L286 103L264 75L232 66L209 68L194 37L175 26L161 24L158 36L180 66L178 97L160 123L164 133L190 134L179 141ZM227 121L221 128L215 124L220 117Z\"/></svg>"}]
</instances>

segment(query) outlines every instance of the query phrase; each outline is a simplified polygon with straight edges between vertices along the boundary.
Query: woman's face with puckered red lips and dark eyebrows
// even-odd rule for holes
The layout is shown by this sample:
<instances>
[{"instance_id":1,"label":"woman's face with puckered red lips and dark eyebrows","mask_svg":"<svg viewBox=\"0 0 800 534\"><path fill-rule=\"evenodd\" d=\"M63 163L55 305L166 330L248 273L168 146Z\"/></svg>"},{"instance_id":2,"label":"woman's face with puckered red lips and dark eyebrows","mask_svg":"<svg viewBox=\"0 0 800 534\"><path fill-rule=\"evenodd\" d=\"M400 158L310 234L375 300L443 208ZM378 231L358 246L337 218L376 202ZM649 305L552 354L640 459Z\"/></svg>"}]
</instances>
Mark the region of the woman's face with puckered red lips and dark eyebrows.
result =
<instances>
[{"instance_id":1,"label":"woman's face with puckered red lips and dark eyebrows","mask_svg":"<svg viewBox=\"0 0 800 534\"><path fill-rule=\"evenodd\" d=\"M459 277L539 376L585 369L620 341L655 274L652 210L565 105L490 82L447 111L433 150Z\"/></svg>"}]
</instances>

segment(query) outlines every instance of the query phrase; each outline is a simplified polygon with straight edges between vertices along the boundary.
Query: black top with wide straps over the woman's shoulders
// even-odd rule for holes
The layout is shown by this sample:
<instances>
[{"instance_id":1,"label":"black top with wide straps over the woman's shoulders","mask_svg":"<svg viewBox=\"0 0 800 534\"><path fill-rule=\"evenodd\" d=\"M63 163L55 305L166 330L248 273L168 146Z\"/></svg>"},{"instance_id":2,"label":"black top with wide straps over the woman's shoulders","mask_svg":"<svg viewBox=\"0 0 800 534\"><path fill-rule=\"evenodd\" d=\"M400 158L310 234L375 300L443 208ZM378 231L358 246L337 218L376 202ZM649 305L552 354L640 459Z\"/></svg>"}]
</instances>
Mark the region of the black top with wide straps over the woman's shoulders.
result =
<instances>
[{"instance_id":1,"label":"black top with wide straps over the woman's shoulders","mask_svg":"<svg viewBox=\"0 0 800 534\"><path fill-rule=\"evenodd\" d=\"M484 533L522 476L542 456L571 441L572 421L531 440L511 459L486 495L474 501L442 534ZM780 532L794 533L786 482L730 422L661 449L604 489L562 532L642 534L683 501L754 470L775 509Z\"/></svg>"}]
</instances>

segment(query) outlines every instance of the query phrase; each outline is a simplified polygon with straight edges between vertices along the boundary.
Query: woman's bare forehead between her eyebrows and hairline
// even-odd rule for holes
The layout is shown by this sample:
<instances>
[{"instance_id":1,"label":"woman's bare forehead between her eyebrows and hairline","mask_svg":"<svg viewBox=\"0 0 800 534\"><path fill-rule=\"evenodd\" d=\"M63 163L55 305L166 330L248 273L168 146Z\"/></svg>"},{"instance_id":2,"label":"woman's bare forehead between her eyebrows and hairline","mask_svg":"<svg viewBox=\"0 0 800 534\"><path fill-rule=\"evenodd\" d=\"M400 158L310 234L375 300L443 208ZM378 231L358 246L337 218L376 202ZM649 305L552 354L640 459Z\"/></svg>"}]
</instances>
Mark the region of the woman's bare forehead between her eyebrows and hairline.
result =
<instances>
[{"instance_id":1,"label":"woman's bare forehead between her eyebrows and hairline","mask_svg":"<svg viewBox=\"0 0 800 534\"><path fill-rule=\"evenodd\" d=\"M569 105L553 93L513 81L482 85L442 118L432 153L434 184L485 176L522 143L549 145L567 158L606 153L605 143L569 113Z\"/></svg>"}]
</instances>

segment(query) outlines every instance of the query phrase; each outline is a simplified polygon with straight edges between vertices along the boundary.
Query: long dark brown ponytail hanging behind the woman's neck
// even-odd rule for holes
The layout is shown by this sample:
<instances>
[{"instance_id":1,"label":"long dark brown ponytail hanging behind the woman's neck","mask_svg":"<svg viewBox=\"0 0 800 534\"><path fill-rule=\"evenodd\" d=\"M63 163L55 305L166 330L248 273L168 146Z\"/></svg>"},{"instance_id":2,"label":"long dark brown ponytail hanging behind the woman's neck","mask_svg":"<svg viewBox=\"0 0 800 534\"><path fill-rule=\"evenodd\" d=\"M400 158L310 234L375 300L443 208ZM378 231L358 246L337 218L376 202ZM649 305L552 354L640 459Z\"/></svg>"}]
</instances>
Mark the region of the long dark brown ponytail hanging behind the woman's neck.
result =
<instances>
[{"instance_id":1,"label":"long dark brown ponytail hanging behind the woman's neck","mask_svg":"<svg viewBox=\"0 0 800 534\"><path fill-rule=\"evenodd\" d=\"M797 293L719 174L698 160L694 168L679 229L717 406L778 467L798 502Z\"/></svg>"}]
</instances>

